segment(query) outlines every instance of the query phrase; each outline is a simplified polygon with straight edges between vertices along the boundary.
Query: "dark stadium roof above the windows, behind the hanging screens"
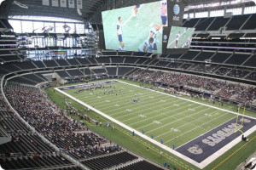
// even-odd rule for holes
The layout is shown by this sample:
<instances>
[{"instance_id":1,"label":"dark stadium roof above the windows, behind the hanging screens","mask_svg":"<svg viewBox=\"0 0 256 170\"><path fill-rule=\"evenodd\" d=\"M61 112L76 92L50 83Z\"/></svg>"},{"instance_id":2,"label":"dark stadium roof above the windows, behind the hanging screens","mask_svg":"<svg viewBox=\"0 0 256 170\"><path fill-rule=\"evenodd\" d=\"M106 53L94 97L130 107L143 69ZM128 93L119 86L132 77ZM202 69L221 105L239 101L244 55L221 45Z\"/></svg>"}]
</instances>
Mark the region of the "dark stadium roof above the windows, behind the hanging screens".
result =
<instances>
[{"instance_id":1,"label":"dark stadium roof above the windows, behind the hanging screens","mask_svg":"<svg viewBox=\"0 0 256 170\"><path fill-rule=\"evenodd\" d=\"M82 0L83 8L78 12L77 8L61 8L53 7L51 5L52 1L49 1L49 6L43 5L42 0L6 0L10 3L9 15L34 15L34 16L50 16L50 17L59 17L67 18L73 20L83 20L90 21L92 23L101 23L102 16L101 12L113 8L122 8L127 6L132 6L137 3L152 3L159 0ZM238 6L240 3L250 3L253 0L180 0L185 3L186 6L195 6L200 4L209 4L209 3L229 3L232 5ZM17 5L15 2L18 2L22 5L27 6L27 8L22 8ZM58 1L60 2L60 1ZM76 3L76 1L74 1ZM231 3L232 2L232 3ZM241 4L240 4L241 5ZM243 4L244 5L244 4ZM220 8L218 6L213 6L213 8ZM193 10L193 8L192 8ZM195 8L194 10L200 11L203 8ZM190 11L190 10L189 10Z\"/></svg>"}]
</instances>

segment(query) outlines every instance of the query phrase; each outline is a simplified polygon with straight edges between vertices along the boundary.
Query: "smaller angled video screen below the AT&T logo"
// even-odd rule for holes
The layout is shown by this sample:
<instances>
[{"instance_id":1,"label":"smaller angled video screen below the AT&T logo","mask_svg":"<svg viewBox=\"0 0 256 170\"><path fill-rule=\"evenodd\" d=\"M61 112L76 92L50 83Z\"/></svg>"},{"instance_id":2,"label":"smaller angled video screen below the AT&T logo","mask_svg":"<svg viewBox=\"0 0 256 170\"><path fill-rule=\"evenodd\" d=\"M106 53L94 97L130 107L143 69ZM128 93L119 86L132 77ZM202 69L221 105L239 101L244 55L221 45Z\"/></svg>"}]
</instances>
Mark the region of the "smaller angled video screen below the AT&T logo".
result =
<instances>
[{"instance_id":1,"label":"smaller angled video screen below the AT&T logo","mask_svg":"<svg viewBox=\"0 0 256 170\"><path fill-rule=\"evenodd\" d=\"M172 26L167 48L190 48L195 28Z\"/></svg>"}]
</instances>

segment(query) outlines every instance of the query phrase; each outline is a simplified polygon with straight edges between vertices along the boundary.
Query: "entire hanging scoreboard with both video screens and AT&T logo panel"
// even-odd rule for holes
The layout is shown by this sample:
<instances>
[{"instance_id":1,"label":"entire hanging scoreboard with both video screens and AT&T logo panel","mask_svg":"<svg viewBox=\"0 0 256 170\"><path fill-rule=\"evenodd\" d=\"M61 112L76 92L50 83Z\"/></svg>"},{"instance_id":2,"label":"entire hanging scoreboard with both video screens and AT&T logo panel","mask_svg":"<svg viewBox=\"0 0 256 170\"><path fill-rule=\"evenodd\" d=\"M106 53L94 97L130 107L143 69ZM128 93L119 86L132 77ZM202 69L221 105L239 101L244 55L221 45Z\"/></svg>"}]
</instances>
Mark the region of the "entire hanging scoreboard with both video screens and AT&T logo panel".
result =
<instances>
[{"instance_id":1,"label":"entire hanging scoreboard with both video screens and AT&T logo panel","mask_svg":"<svg viewBox=\"0 0 256 170\"><path fill-rule=\"evenodd\" d=\"M103 11L100 43L102 39L102 47L119 51L187 53L194 29L181 27L183 14L184 4L179 0Z\"/></svg>"}]
</instances>

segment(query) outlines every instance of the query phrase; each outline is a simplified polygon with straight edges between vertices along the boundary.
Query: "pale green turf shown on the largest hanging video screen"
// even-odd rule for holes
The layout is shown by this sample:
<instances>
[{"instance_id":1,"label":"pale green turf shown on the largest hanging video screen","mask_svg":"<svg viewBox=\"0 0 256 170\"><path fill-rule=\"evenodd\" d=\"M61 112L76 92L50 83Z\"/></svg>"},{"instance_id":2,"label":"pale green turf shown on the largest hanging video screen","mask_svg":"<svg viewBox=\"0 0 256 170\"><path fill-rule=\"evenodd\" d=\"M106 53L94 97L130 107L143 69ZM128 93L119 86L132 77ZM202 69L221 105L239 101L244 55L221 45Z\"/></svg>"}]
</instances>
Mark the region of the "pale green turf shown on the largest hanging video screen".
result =
<instances>
[{"instance_id":1,"label":"pale green turf shown on the largest hanging video screen","mask_svg":"<svg viewBox=\"0 0 256 170\"><path fill-rule=\"evenodd\" d=\"M117 37L117 23L119 16L123 21L123 42L127 51L138 51L140 44L148 39L149 31L155 25L161 26L160 1L141 5L137 17L133 17L133 8L119 8L102 12L104 37L107 49L119 50L119 39ZM162 30L158 34L157 54L162 52Z\"/></svg>"}]
</instances>

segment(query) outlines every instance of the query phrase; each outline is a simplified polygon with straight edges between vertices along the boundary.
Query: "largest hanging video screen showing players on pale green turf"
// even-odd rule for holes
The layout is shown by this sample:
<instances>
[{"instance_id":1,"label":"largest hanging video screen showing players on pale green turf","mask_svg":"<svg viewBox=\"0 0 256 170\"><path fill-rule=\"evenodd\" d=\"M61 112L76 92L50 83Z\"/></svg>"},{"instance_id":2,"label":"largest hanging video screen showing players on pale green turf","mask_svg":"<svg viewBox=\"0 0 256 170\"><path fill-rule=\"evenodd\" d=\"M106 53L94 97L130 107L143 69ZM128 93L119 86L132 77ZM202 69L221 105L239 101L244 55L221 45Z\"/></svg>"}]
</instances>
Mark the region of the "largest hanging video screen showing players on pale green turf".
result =
<instances>
[{"instance_id":1,"label":"largest hanging video screen showing players on pale green turf","mask_svg":"<svg viewBox=\"0 0 256 170\"><path fill-rule=\"evenodd\" d=\"M106 49L162 53L166 0L102 12Z\"/></svg>"}]
</instances>

